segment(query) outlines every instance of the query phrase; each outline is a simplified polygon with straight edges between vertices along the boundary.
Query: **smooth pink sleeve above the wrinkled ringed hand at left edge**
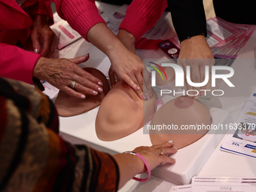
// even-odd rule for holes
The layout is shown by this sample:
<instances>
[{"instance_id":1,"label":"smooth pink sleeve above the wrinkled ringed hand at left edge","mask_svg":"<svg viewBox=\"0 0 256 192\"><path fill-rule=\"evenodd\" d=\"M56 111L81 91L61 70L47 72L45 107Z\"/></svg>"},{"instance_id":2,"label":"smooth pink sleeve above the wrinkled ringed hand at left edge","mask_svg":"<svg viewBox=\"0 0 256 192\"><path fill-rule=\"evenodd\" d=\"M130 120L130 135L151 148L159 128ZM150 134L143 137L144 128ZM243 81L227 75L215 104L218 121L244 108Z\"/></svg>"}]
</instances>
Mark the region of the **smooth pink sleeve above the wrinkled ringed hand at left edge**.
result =
<instances>
[{"instance_id":1,"label":"smooth pink sleeve above the wrinkled ringed hand at left edge","mask_svg":"<svg viewBox=\"0 0 256 192\"><path fill-rule=\"evenodd\" d=\"M41 57L19 47L0 43L0 76L32 84L35 63Z\"/></svg>"}]
</instances>

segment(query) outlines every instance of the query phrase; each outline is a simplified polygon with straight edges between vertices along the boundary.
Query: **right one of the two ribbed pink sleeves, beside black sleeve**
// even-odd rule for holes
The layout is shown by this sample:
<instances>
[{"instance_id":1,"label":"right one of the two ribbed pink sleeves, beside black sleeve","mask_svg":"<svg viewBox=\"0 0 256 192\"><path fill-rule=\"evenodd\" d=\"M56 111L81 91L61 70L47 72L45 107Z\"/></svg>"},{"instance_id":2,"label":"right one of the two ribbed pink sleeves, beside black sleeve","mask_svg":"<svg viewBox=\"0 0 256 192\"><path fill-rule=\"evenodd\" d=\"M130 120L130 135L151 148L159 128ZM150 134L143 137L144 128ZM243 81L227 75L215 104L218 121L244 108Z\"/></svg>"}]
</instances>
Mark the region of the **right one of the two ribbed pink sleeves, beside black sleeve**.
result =
<instances>
[{"instance_id":1,"label":"right one of the two ribbed pink sleeves, beside black sleeve","mask_svg":"<svg viewBox=\"0 0 256 192\"><path fill-rule=\"evenodd\" d=\"M119 29L126 29L139 40L157 23L167 6L166 0L133 0Z\"/></svg>"}]
</instances>

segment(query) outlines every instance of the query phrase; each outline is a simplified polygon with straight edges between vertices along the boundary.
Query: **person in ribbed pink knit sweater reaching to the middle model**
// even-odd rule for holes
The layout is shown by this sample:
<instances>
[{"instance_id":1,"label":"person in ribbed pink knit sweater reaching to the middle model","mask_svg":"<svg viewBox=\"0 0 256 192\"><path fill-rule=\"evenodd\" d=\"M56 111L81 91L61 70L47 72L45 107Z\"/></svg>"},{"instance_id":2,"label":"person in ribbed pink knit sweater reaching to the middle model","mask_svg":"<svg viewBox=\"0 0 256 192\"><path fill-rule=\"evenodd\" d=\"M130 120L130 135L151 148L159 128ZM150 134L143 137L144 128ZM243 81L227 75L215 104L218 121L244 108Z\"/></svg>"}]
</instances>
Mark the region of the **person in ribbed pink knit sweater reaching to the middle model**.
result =
<instances>
[{"instance_id":1,"label":"person in ribbed pink knit sweater reaching to the middle model","mask_svg":"<svg viewBox=\"0 0 256 192\"><path fill-rule=\"evenodd\" d=\"M95 1L90 0L54 0L56 11L62 19L102 50L111 61L111 84L115 84L114 72L117 77L126 81L143 99L143 62L135 51L123 44L105 24L99 15ZM131 38L139 39L159 20L167 7L166 0L133 1L127 9L126 17L120 26L120 33L129 32ZM120 35L119 35L120 36ZM128 35L129 36L129 35ZM128 41L128 38L127 38ZM134 49L135 50L135 49Z\"/></svg>"}]
</instances>

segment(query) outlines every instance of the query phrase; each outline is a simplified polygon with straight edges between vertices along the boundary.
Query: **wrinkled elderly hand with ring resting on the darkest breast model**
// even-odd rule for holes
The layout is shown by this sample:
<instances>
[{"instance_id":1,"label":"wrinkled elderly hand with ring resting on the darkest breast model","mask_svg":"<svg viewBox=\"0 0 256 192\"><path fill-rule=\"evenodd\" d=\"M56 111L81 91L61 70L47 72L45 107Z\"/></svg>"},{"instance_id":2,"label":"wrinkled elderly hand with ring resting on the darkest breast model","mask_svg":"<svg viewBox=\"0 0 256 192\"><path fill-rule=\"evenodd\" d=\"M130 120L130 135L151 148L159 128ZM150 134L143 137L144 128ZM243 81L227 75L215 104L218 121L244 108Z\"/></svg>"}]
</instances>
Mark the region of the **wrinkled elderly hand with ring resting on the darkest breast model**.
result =
<instances>
[{"instance_id":1,"label":"wrinkled elderly hand with ring resting on the darkest breast model","mask_svg":"<svg viewBox=\"0 0 256 192\"><path fill-rule=\"evenodd\" d=\"M102 92L102 81L78 66L87 59L89 54L74 59L41 57L34 67L33 77L47 81L59 90L80 99L84 99L85 94L96 96ZM74 89L71 87L73 81L76 82Z\"/></svg>"}]
</instances>

